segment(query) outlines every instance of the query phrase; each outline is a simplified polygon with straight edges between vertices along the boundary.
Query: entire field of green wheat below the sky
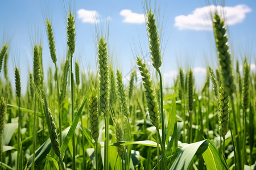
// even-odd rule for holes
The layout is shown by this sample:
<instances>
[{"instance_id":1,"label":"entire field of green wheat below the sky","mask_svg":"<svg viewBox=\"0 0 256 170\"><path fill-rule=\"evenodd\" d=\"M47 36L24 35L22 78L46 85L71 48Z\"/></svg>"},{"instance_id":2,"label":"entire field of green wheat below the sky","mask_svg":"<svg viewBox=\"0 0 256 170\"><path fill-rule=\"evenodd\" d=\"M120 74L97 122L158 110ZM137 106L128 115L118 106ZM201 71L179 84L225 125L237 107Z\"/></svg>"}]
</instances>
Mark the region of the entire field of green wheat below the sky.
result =
<instances>
[{"instance_id":1,"label":"entire field of green wheat below the sky","mask_svg":"<svg viewBox=\"0 0 256 170\"><path fill-rule=\"evenodd\" d=\"M232 61L225 19L213 13L218 67L205 65L205 83L196 90L192 68L180 67L174 86L163 86L160 26L154 10L146 8L145 16L151 63L136 56L127 84L110 62L108 37L98 36L95 74L80 69L71 11L65 60L45 20L48 46L33 44L27 86L19 66L8 73L12 44L2 42L0 169L256 168L256 73L250 58ZM46 57L54 67L43 66Z\"/></svg>"}]
</instances>

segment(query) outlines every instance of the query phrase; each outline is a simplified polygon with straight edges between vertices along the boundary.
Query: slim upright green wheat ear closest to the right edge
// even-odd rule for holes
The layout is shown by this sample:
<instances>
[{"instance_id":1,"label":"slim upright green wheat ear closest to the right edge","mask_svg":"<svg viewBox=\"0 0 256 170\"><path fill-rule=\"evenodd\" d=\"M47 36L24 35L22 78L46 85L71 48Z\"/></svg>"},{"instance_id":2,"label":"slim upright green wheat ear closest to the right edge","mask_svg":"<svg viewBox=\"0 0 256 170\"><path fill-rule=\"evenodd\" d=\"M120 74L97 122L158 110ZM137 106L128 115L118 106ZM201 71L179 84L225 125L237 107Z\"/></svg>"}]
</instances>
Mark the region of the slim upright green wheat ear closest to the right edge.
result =
<instances>
[{"instance_id":1,"label":"slim upright green wheat ear closest to the right edge","mask_svg":"<svg viewBox=\"0 0 256 170\"><path fill-rule=\"evenodd\" d=\"M245 59L245 63L243 64L243 108L246 109L249 106L249 79L250 79L250 67L247 65L247 61Z\"/></svg>"}]
</instances>

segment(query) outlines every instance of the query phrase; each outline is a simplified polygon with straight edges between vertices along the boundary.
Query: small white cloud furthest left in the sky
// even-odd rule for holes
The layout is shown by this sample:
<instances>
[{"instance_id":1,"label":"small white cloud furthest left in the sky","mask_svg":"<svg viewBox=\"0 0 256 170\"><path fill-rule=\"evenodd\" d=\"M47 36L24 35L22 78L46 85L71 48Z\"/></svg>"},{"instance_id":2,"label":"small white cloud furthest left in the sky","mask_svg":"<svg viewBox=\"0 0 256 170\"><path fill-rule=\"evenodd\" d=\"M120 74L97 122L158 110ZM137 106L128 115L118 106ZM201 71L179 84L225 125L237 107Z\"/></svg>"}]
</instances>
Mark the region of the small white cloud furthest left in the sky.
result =
<instances>
[{"instance_id":1,"label":"small white cloud furthest left in the sky","mask_svg":"<svg viewBox=\"0 0 256 170\"><path fill-rule=\"evenodd\" d=\"M83 23L97 23L98 22L98 12L89 11L85 9L80 9L77 11L78 18L82 20Z\"/></svg>"}]
</instances>

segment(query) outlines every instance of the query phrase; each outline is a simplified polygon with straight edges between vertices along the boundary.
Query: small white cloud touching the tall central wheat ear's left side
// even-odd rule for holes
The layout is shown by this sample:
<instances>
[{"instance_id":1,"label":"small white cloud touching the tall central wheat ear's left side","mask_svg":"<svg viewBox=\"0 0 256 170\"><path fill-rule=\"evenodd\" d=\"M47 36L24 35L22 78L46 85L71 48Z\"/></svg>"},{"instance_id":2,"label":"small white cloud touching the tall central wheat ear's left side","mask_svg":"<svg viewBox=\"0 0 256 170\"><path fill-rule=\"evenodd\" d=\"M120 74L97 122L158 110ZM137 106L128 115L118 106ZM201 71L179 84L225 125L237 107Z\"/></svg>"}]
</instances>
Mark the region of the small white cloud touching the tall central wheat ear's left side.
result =
<instances>
[{"instance_id":1,"label":"small white cloud touching the tall central wheat ear's left side","mask_svg":"<svg viewBox=\"0 0 256 170\"><path fill-rule=\"evenodd\" d=\"M124 23L142 24L145 22L144 14L138 14L131 10L122 10L120 15L124 17Z\"/></svg>"}]
</instances>

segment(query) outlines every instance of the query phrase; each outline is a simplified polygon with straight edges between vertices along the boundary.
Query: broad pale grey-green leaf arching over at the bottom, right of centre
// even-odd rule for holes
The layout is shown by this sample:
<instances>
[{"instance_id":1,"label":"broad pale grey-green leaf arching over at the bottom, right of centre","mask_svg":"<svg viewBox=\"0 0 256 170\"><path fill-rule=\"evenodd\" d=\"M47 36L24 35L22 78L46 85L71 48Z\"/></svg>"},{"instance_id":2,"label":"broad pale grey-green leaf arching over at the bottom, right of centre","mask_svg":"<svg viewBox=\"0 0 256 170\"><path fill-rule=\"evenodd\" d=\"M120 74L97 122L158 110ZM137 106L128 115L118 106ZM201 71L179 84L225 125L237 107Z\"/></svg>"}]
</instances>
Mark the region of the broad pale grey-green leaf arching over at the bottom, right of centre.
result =
<instances>
[{"instance_id":1,"label":"broad pale grey-green leaf arching over at the bottom, right of centre","mask_svg":"<svg viewBox=\"0 0 256 170\"><path fill-rule=\"evenodd\" d=\"M209 143L205 141L206 140L187 145L183 144L184 146L179 151L177 158L175 159L174 164L172 164L170 169L188 169L193 159L195 159L195 156L199 156L200 154L203 154L205 150L207 150L205 145L208 146ZM197 154L198 152L199 154Z\"/></svg>"}]
</instances>

